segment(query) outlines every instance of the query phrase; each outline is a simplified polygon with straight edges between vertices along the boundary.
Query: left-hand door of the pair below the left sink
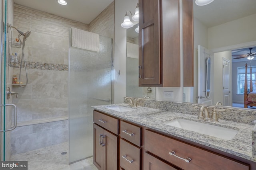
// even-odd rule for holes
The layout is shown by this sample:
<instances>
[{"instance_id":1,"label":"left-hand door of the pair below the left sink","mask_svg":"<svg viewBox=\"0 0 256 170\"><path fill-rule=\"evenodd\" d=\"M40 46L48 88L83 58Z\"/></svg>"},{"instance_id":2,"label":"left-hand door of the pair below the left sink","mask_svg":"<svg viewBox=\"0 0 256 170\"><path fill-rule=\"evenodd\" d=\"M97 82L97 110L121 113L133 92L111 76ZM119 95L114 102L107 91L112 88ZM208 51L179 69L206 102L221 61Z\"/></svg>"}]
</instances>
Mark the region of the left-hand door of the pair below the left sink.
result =
<instances>
[{"instance_id":1,"label":"left-hand door of the pair below the left sink","mask_svg":"<svg viewBox=\"0 0 256 170\"><path fill-rule=\"evenodd\" d=\"M93 124L93 164L98 170L104 170L103 154L104 147L102 147L103 129L96 124Z\"/></svg>"}]
</instances>

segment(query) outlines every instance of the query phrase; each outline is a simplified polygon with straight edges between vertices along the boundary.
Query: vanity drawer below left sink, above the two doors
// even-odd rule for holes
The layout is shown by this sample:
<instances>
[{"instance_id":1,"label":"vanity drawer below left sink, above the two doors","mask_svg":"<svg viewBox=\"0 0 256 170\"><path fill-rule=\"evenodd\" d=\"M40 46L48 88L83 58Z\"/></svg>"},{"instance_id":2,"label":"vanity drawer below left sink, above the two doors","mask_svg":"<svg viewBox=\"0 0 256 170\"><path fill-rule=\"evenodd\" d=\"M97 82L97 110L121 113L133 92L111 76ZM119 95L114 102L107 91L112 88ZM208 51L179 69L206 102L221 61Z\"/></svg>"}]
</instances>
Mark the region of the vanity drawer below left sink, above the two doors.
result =
<instances>
[{"instance_id":1,"label":"vanity drawer below left sink, above the two doors","mask_svg":"<svg viewBox=\"0 0 256 170\"><path fill-rule=\"evenodd\" d=\"M118 119L93 111L93 122L118 135Z\"/></svg>"}]
</instances>

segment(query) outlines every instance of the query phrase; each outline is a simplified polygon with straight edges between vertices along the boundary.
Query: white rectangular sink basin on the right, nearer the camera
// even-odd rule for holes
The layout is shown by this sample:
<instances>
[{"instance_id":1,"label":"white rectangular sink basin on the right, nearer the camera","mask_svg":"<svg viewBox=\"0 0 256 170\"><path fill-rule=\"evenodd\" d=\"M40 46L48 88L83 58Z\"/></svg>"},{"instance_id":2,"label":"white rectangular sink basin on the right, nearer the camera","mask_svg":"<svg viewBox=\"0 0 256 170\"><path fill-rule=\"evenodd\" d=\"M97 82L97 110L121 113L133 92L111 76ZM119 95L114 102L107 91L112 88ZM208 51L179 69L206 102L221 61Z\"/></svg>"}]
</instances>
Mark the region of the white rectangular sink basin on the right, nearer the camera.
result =
<instances>
[{"instance_id":1,"label":"white rectangular sink basin on the right, nearer the camera","mask_svg":"<svg viewBox=\"0 0 256 170\"><path fill-rule=\"evenodd\" d=\"M190 121L186 119L174 119L164 124L226 140L233 139L238 133L238 130Z\"/></svg>"}]
</instances>

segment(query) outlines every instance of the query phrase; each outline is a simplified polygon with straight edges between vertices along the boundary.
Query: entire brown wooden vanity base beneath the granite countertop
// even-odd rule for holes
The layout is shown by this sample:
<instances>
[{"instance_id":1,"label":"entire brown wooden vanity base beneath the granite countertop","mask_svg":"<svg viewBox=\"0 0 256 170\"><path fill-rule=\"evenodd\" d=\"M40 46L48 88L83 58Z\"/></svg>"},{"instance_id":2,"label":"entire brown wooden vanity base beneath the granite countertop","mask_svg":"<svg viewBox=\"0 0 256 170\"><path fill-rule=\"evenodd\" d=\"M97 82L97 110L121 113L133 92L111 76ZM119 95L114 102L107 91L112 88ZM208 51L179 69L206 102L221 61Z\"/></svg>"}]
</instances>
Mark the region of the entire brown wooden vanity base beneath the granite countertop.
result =
<instances>
[{"instance_id":1,"label":"entire brown wooden vanity base beneath the granite countertop","mask_svg":"<svg viewBox=\"0 0 256 170\"><path fill-rule=\"evenodd\" d=\"M94 111L93 120L93 163L99 170L254 170L256 168L256 163L250 160L190 141L178 140L172 135L159 133L99 111ZM124 130L126 133L122 132ZM176 156L171 155L169 153L171 151L174 151ZM124 155L126 159L123 158ZM189 160L188 158L191 161L184 161L184 159Z\"/></svg>"}]
</instances>

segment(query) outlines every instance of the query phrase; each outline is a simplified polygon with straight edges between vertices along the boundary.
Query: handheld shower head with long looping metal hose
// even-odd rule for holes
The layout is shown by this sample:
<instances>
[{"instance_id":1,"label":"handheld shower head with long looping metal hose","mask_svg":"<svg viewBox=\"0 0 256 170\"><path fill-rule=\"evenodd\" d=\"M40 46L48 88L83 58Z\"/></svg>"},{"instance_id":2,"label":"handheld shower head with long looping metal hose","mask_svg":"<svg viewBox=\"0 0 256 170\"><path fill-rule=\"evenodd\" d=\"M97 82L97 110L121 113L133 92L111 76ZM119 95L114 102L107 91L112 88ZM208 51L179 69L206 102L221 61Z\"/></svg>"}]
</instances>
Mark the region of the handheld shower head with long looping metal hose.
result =
<instances>
[{"instance_id":1,"label":"handheld shower head with long looping metal hose","mask_svg":"<svg viewBox=\"0 0 256 170\"><path fill-rule=\"evenodd\" d=\"M27 72L27 67L26 67L26 61L25 61L25 57L24 57L24 48L25 48L25 41L26 39L29 37L31 31L27 31L26 33L18 30L16 27L8 24L8 27L9 28L14 28L16 29L16 31L18 31L19 35L18 35L18 39L20 40L20 35L23 36L23 40L21 42L20 40L20 43L21 43L21 46L22 46L22 57L21 57L21 61L20 61L20 75L21 75L21 68L22 68L22 59L24 60L24 67L25 67L25 71L26 71L26 84L24 86L22 86L22 84L20 83L20 75L19 75L19 84L21 87L26 87L26 85L28 84L28 72Z\"/></svg>"}]
</instances>

